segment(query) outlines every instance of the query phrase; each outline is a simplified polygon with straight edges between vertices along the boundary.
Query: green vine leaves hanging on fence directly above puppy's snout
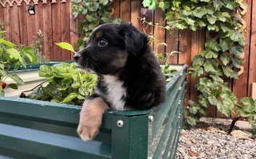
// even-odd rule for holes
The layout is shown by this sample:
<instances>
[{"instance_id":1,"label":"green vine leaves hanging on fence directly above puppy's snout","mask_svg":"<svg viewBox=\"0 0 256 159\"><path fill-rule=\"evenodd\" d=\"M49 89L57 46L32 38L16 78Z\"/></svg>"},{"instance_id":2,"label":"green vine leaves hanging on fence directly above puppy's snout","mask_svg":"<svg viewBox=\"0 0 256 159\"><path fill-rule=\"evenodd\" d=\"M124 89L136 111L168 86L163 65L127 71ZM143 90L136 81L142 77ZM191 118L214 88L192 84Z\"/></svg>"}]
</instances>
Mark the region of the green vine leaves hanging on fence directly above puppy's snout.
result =
<instances>
[{"instance_id":1,"label":"green vine leaves hanging on fence directly above puppy's snout","mask_svg":"<svg viewBox=\"0 0 256 159\"><path fill-rule=\"evenodd\" d=\"M112 20L111 8L109 4L112 0L74 0L71 9L75 17L85 15L83 21L79 23L80 33L85 33L82 40L77 41L77 48L83 48L84 42L89 41L89 34L96 28L96 26L104 23L119 23L120 18Z\"/></svg>"}]
</instances>

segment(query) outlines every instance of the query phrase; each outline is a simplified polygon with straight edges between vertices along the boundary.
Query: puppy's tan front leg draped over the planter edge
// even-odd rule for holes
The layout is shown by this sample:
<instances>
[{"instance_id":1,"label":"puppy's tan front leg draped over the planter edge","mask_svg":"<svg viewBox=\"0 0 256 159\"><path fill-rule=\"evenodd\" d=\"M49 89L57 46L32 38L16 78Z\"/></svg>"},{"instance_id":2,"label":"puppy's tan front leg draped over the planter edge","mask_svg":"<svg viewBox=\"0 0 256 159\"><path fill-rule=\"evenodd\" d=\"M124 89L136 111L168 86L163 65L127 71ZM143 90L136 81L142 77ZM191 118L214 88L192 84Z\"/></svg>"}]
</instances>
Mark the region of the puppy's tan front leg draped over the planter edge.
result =
<instances>
[{"instance_id":1,"label":"puppy's tan front leg draped over the planter edge","mask_svg":"<svg viewBox=\"0 0 256 159\"><path fill-rule=\"evenodd\" d=\"M85 100L77 127L77 133L82 140L85 142L92 140L99 133L102 116L108 109L108 104L100 97Z\"/></svg>"}]
</instances>

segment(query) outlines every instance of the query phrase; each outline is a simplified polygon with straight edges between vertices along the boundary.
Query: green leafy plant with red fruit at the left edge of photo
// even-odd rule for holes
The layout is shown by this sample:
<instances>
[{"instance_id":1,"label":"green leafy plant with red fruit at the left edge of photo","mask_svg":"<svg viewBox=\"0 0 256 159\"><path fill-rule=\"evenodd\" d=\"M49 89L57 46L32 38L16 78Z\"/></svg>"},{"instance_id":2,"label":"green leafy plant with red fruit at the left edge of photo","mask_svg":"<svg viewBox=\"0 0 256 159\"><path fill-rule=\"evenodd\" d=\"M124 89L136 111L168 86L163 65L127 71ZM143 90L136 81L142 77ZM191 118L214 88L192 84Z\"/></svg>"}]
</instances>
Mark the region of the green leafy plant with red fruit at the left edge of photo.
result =
<instances>
[{"instance_id":1,"label":"green leafy plant with red fruit at the left edge of photo","mask_svg":"<svg viewBox=\"0 0 256 159\"><path fill-rule=\"evenodd\" d=\"M4 96L5 92L4 89L6 87L10 87L13 89L18 89L18 84L24 84L23 80L17 76L12 75L8 76L7 72L9 71L16 71L18 70L20 64L24 68L26 68L26 60L33 63L35 61L35 55L31 51L30 48L22 48L18 50L15 48L16 45L11 43L10 41L5 40L6 31L3 30L3 27L0 29L0 85L5 87L0 87L0 96ZM14 66L14 67L12 67ZM5 83L5 80L10 78L14 80L15 83Z\"/></svg>"}]
</instances>

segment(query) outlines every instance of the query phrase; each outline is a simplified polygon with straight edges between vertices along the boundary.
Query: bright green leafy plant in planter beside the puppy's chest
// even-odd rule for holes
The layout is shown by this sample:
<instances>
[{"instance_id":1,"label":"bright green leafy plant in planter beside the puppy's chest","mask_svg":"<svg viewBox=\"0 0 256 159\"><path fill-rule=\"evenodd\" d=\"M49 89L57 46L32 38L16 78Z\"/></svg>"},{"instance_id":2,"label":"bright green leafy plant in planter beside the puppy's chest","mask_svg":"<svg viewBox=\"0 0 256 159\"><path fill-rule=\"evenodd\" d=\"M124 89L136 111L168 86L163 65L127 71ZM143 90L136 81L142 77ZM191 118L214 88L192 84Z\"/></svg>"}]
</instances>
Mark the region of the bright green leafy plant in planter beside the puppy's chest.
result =
<instances>
[{"instance_id":1,"label":"bright green leafy plant in planter beside the puppy's chest","mask_svg":"<svg viewBox=\"0 0 256 159\"><path fill-rule=\"evenodd\" d=\"M37 87L28 95L30 99L81 105L96 86L96 75L81 72L74 63L41 65L38 73L48 84Z\"/></svg>"}]
</instances>

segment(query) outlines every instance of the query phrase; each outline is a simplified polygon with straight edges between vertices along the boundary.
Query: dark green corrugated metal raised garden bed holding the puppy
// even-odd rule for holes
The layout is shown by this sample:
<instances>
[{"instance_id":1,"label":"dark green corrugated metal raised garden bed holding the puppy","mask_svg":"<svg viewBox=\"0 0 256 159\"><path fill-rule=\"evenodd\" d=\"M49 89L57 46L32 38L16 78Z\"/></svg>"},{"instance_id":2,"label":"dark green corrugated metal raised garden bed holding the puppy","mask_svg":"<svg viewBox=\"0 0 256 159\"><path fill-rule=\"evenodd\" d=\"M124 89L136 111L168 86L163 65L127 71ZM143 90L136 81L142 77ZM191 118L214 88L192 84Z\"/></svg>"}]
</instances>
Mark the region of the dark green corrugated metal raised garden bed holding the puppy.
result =
<instances>
[{"instance_id":1,"label":"dark green corrugated metal raised garden bed holding the puppy","mask_svg":"<svg viewBox=\"0 0 256 159\"><path fill-rule=\"evenodd\" d=\"M0 97L0 158L174 159L187 65L177 67L165 103L152 110L106 112L100 134L89 142L76 133L81 107Z\"/></svg>"}]
</instances>

